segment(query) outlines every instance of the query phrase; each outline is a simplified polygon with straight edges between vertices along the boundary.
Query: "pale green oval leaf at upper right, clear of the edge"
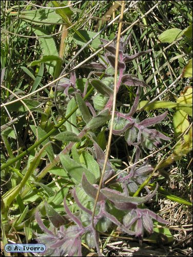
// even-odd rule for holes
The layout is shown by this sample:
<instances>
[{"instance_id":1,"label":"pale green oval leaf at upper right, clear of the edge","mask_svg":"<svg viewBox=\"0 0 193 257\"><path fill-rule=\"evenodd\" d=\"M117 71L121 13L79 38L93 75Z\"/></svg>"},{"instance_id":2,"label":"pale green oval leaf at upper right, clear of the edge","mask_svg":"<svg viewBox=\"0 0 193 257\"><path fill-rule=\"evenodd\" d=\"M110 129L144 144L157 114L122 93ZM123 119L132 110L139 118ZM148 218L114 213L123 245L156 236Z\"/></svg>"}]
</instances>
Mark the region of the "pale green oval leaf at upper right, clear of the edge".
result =
<instances>
[{"instance_id":1,"label":"pale green oval leaf at upper right, clear of the edge","mask_svg":"<svg viewBox=\"0 0 193 257\"><path fill-rule=\"evenodd\" d=\"M183 30L178 28L167 29L166 31L160 34L158 39L162 43L172 43L173 41L179 39L180 36L183 35L183 33Z\"/></svg>"}]
</instances>

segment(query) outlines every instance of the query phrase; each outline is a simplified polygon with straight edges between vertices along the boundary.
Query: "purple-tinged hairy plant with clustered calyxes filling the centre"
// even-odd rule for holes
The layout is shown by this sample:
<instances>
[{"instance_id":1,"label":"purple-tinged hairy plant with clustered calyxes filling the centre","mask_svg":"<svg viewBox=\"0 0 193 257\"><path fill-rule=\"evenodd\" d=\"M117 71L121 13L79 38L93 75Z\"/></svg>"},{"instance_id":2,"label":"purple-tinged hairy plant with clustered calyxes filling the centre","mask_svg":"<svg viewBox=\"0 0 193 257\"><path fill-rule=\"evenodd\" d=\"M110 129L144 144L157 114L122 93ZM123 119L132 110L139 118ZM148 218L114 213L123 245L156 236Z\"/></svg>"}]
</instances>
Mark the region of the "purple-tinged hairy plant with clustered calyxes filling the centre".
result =
<instances>
[{"instance_id":1,"label":"purple-tinged hairy plant with clustered calyxes filling the centre","mask_svg":"<svg viewBox=\"0 0 193 257\"><path fill-rule=\"evenodd\" d=\"M117 109L113 121L112 133L114 135L124 135L128 145L133 145L134 148L136 148L135 162L137 162L143 150L152 150L161 143L161 140L169 140L169 137L153 128L149 128L165 119L167 113L153 118L146 118L141 121L139 118L134 117L139 104L141 89L147 85L132 75L124 74L126 64L151 50L129 56L129 54L125 52L129 40L130 36L128 36L125 42L123 39L121 39L120 42L117 93L121 85L137 86L136 98L127 114L121 113ZM104 44L108 42L106 40L101 41ZM146 188L147 195L142 197L132 196L132 193L136 192L138 187L147 179L153 168L146 162L139 167L134 165L128 174L127 172L121 172L121 170L116 169L109 160L107 161L103 185L99 192L98 203L92 223L94 199L96 198L99 188L97 184L99 176L93 171L93 168L101 171L105 159L104 152L95 142L94 132L95 128L107 123L111 117L115 43L106 47L106 51L104 56L106 63L100 61L99 63L92 62L85 65L85 67L92 68L94 71L90 72L83 93L80 93L80 91L75 88L74 74L71 75L70 80L66 80L63 85L60 85L60 89L64 90L67 96L69 96L69 87L72 86L74 88L79 111L83 121L86 123L82 134L80 133L76 135L76 137L81 139L83 134L85 135L90 132L90 139L94 142L94 147L89 148L92 155L85 157L84 164L83 162L81 163L80 156L78 152L74 152L75 150L72 152L73 159L67 154L60 155L64 169L75 183L72 194L74 203L76 203L79 212L72 213L65 198L64 209L67 214L67 222L64 222L63 217L58 213L52 216L51 219L47 212L50 222L54 226L52 231L45 227L40 214L38 212L36 213L37 223L45 232L45 234L38 235L38 241L41 243L45 242L47 246L46 255L49 256L64 256L65 254L68 254L68 256L82 256L81 242L83 239L89 247L95 247L98 254L101 256L99 244L100 232L106 232L113 226L118 226L124 233L136 236L142 240L144 231L149 234L153 232L153 220L162 224L168 224L167 221L164 221L163 218L153 211L147 208L141 208L142 204L147 203L156 194L158 184L152 193ZM104 76L102 80L101 78L91 78L92 75L101 76L102 74ZM96 90L96 95L92 98L94 108L90 102L83 100L87 92L88 83ZM73 95L71 95L71 97ZM74 101L74 98L70 100L70 104L72 104L72 101ZM70 144L70 147L72 148L72 144ZM107 181L116 174L118 175L115 176L113 180L110 182ZM79 197L79 192L82 192L86 200ZM60 224L56 222L59 220L61 220Z\"/></svg>"}]
</instances>

